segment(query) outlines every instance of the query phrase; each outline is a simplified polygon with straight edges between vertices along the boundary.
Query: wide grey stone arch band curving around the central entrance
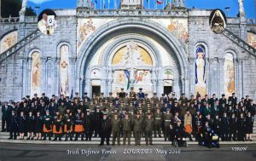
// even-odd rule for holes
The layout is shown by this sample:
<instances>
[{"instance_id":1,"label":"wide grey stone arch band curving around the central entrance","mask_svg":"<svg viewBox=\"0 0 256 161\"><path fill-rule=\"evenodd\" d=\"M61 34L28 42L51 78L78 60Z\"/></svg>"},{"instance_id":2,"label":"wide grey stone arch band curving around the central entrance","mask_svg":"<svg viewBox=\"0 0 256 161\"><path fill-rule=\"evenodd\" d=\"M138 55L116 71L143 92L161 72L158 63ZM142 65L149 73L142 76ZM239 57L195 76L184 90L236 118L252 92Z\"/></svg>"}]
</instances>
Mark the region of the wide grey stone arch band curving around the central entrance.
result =
<instances>
[{"instance_id":1,"label":"wide grey stone arch band curving around the central entrance","mask_svg":"<svg viewBox=\"0 0 256 161\"><path fill-rule=\"evenodd\" d=\"M153 37L155 41L163 44L166 50L172 51L172 53L175 54L172 55L172 57L177 62L177 84L180 87L177 94L186 92L188 88L185 88L185 86L189 83L187 77L188 59L185 50L183 49L183 45L163 26L160 26L151 20L141 20L137 18L125 18L108 22L108 24L99 27L96 32L92 33L90 38L86 40L79 50L79 64L76 72L77 91L84 92L84 86L89 84L88 81L86 82L86 80L84 80L85 72L88 69L90 60L96 53L96 49L99 49L99 47L110 38L124 33L137 33L143 36ZM108 66L102 66L102 70L107 70L107 68Z\"/></svg>"}]
</instances>

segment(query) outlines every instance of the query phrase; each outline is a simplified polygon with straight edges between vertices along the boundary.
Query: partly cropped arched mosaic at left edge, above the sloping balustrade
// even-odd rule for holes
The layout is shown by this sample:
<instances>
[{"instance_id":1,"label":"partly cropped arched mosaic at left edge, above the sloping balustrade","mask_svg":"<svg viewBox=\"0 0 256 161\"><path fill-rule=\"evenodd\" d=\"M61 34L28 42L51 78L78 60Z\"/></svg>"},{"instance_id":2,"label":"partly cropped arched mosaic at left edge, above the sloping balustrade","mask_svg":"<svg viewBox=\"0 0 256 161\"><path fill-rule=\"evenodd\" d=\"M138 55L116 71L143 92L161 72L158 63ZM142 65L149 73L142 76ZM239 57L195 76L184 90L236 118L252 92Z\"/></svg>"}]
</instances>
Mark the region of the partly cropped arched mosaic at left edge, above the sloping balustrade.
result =
<instances>
[{"instance_id":1,"label":"partly cropped arched mosaic at left edge, above the sloping balustrade","mask_svg":"<svg viewBox=\"0 0 256 161\"><path fill-rule=\"evenodd\" d=\"M1 48L0 48L0 54L12 47L15 43L18 41L18 31L15 32L9 32L9 34L5 35L1 39Z\"/></svg>"}]
</instances>

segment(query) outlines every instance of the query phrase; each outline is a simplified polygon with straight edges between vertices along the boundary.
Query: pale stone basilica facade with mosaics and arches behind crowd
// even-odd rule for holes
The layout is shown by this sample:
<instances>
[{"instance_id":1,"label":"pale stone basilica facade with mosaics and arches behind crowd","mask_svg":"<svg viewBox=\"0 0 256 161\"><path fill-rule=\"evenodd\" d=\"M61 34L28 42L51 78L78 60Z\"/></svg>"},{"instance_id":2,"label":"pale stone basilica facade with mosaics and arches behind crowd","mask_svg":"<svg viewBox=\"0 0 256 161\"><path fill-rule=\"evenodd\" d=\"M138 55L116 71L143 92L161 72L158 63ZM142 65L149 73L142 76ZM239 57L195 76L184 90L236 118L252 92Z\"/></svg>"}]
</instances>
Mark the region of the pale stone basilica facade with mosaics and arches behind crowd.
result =
<instances>
[{"instance_id":1,"label":"pale stone basilica facade with mosaics and arches behind crowd","mask_svg":"<svg viewBox=\"0 0 256 161\"><path fill-rule=\"evenodd\" d=\"M173 1L172 9L126 1L123 8L91 9L83 2L55 9L51 36L38 32L37 17L20 13L19 20L1 20L1 101L35 93L108 96L130 87L149 96L236 93L256 99L256 21L246 19L242 5L216 34L209 26L212 10L186 9L183 1Z\"/></svg>"}]
</instances>

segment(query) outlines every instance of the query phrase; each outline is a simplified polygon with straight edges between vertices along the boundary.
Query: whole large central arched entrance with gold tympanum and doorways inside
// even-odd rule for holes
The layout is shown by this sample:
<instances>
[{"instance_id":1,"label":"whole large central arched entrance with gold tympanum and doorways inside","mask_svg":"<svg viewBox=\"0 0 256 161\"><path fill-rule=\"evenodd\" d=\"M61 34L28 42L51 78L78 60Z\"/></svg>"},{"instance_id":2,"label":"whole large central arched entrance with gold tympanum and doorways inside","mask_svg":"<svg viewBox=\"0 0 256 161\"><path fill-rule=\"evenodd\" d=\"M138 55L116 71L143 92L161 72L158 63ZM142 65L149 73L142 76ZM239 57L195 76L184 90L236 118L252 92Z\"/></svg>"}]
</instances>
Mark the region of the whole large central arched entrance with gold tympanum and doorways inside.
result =
<instances>
[{"instance_id":1,"label":"whole large central arched entrance with gold tympanum and doorways inside","mask_svg":"<svg viewBox=\"0 0 256 161\"><path fill-rule=\"evenodd\" d=\"M137 18L113 20L79 50L77 91L107 96L130 85L149 95L166 90L180 95L188 89L187 61L182 44L163 26Z\"/></svg>"}]
</instances>

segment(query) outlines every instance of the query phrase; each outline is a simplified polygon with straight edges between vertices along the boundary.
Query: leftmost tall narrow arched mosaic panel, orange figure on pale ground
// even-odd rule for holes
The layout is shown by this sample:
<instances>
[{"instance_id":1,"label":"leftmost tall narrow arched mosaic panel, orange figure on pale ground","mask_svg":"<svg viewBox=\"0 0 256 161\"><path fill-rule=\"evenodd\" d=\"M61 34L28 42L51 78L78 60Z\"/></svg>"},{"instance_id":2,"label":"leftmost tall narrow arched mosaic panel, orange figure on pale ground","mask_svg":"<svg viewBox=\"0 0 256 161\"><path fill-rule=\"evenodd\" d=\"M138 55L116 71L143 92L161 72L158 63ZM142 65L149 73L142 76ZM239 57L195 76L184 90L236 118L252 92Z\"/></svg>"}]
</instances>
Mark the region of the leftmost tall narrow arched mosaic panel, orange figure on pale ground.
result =
<instances>
[{"instance_id":1,"label":"leftmost tall narrow arched mosaic panel, orange figure on pale ground","mask_svg":"<svg viewBox=\"0 0 256 161\"><path fill-rule=\"evenodd\" d=\"M31 81L31 95L41 93L41 55L38 51L32 53L32 81Z\"/></svg>"}]
</instances>

